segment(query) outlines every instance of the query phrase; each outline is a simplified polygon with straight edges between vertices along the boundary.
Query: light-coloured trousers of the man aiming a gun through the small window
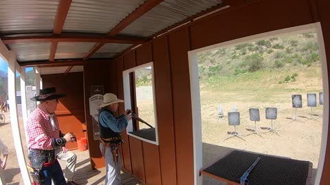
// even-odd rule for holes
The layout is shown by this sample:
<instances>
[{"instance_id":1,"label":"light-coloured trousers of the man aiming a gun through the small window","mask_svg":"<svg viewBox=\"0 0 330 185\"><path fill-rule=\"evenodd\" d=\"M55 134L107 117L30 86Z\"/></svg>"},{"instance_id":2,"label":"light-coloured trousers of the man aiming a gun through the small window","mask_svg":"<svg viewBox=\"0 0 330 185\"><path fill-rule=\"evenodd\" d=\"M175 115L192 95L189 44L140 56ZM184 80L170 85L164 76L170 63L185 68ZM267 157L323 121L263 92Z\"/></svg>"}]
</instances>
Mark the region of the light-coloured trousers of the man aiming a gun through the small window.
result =
<instances>
[{"instance_id":1,"label":"light-coloured trousers of the man aiming a gun through the small window","mask_svg":"<svg viewBox=\"0 0 330 185\"><path fill-rule=\"evenodd\" d=\"M100 143L100 150L102 152L102 143ZM119 155L119 153L118 153ZM107 170L107 175L105 176L105 185L120 185L121 177L120 177L120 169L122 168L122 161L120 156L118 156L118 162L115 164L113 161L113 156L111 153L110 147L105 147L105 169Z\"/></svg>"}]
</instances>

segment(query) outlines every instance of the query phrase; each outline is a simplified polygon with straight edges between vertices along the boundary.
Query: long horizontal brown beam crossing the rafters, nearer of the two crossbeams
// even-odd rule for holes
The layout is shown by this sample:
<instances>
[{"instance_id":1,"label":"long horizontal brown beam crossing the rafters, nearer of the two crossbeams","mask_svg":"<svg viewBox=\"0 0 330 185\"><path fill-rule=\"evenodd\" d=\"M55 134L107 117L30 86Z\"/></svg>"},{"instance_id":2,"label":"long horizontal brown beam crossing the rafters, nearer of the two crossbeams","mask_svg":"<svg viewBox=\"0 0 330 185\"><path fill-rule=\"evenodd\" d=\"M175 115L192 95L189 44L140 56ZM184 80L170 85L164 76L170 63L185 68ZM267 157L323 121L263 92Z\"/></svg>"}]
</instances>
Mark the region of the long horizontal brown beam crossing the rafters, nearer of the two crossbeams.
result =
<instances>
[{"instance_id":1,"label":"long horizontal brown beam crossing the rafters, nearer of the two crossbeams","mask_svg":"<svg viewBox=\"0 0 330 185\"><path fill-rule=\"evenodd\" d=\"M31 42L104 42L118 44L142 44L145 38L132 36L80 36L80 35L53 35L53 36L12 36L0 38L5 45Z\"/></svg>"}]
</instances>

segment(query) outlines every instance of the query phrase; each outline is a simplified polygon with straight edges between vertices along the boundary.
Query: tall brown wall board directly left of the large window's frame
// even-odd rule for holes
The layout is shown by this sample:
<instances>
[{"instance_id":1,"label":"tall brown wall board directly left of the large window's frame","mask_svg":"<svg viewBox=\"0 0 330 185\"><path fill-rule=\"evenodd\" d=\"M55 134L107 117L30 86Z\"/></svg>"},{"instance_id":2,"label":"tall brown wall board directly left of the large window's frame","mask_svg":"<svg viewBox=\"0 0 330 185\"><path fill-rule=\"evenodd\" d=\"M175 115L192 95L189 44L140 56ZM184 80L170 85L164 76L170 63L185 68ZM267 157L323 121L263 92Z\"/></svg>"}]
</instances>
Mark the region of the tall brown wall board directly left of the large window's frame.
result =
<instances>
[{"instance_id":1,"label":"tall brown wall board directly left of the large window's frame","mask_svg":"<svg viewBox=\"0 0 330 185\"><path fill-rule=\"evenodd\" d=\"M171 34L168 38L168 45L173 93L177 184L190 185L194 184L194 153L188 68L188 28Z\"/></svg>"}]
</instances>

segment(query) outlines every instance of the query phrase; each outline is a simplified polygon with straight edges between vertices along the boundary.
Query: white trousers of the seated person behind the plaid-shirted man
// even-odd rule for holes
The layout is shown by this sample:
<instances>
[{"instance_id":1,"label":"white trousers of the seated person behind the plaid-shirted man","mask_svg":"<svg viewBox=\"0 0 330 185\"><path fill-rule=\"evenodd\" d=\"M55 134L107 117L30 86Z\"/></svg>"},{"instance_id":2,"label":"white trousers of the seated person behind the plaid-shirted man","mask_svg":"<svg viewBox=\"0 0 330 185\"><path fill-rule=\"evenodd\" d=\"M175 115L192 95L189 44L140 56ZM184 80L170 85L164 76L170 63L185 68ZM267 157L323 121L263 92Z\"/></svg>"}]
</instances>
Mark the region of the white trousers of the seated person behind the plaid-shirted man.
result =
<instances>
[{"instance_id":1,"label":"white trousers of the seated person behind the plaid-shirted man","mask_svg":"<svg viewBox=\"0 0 330 185\"><path fill-rule=\"evenodd\" d=\"M64 177L67 182L74 180L74 169L76 169L77 156L75 153L71 151L67 151L67 153L63 153L60 151L57 154L57 158L59 160L65 160L67 162L67 167L65 168Z\"/></svg>"}]
</instances>

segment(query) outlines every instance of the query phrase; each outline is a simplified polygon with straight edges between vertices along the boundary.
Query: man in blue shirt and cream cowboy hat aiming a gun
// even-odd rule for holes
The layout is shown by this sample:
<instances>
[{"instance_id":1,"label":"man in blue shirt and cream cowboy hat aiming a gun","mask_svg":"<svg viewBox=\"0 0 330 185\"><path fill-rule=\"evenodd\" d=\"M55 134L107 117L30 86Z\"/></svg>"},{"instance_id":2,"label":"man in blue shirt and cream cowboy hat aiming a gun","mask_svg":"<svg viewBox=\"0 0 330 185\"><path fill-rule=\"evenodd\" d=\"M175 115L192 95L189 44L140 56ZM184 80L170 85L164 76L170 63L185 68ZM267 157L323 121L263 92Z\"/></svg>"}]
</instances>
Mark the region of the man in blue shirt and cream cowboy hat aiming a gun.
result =
<instances>
[{"instance_id":1,"label":"man in blue shirt and cream cowboy hat aiming a gun","mask_svg":"<svg viewBox=\"0 0 330 185\"><path fill-rule=\"evenodd\" d=\"M126 129L131 119L129 112L126 110L124 114L115 116L118 110L118 103L124 102L118 99L116 95L107 93L103 97L103 103L98 112L98 121L100 125L100 150L105 159L105 167L107 175L105 184L120 185L120 169L121 160L118 152L118 146L122 143L121 132Z\"/></svg>"}]
</instances>

